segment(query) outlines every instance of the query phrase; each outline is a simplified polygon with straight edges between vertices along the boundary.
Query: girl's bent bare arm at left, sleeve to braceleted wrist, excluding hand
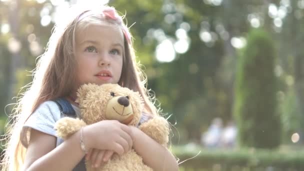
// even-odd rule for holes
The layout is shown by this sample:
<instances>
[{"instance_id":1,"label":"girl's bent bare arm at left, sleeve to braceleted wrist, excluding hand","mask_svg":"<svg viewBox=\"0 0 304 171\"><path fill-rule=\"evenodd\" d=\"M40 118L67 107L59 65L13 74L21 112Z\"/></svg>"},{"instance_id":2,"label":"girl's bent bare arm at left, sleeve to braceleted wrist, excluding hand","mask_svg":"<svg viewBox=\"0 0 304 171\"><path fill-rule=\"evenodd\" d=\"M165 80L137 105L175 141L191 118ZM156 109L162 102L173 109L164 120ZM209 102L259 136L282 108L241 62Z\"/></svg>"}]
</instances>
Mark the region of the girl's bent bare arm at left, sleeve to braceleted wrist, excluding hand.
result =
<instances>
[{"instance_id":1,"label":"girl's bent bare arm at left, sleeve to braceleted wrist, excluding hand","mask_svg":"<svg viewBox=\"0 0 304 171\"><path fill-rule=\"evenodd\" d=\"M84 156L77 131L56 146L56 137L32 129L23 170L72 170Z\"/></svg>"}]
</instances>

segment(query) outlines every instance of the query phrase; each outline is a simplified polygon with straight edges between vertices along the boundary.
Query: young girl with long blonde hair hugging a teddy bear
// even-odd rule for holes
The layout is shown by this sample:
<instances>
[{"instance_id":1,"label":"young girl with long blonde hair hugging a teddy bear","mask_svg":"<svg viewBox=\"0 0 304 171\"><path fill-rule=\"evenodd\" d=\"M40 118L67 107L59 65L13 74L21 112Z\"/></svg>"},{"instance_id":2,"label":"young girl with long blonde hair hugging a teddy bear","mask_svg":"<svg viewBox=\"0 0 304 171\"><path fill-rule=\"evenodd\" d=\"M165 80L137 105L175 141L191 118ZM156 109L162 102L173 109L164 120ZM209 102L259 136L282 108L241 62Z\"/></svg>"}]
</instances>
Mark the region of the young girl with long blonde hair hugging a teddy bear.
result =
<instances>
[{"instance_id":1,"label":"young girl with long blonde hair hugging a teddy bear","mask_svg":"<svg viewBox=\"0 0 304 171\"><path fill-rule=\"evenodd\" d=\"M115 120L87 125L63 141L54 124L66 113L56 99L74 102L83 83L118 83L138 91L145 118L158 114L135 61L131 35L114 8L72 6L56 23L47 49L37 62L33 82L18 101L1 170L84 170L83 157L95 167L113 152L134 148L153 170L178 170L174 156L136 127ZM62 16L63 17L63 16ZM62 104L62 103L61 103Z\"/></svg>"}]
</instances>

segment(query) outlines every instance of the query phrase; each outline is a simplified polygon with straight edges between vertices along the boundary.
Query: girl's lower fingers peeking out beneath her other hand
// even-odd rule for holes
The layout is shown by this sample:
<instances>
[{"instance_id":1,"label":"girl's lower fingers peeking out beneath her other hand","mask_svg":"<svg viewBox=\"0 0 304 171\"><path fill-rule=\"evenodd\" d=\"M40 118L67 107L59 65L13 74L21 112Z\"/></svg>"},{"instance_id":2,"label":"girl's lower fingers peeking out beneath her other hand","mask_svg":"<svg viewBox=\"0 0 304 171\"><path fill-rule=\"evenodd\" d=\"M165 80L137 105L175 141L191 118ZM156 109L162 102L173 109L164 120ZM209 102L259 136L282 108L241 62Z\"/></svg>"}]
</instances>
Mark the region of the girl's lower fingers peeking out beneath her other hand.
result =
<instances>
[{"instance_id":1,"label":"girl's lower fingers peeking out beneath her other hand","mask_svg":"<svg viewBox=\"0 0 304 171\"><path fill-rule=\"evenodd\" d=\"M104 149L90 149L88 153L85 155L86 160L91 160L92 167L99 167L103 163L107 162L114 151L112 150L104 150Z\"/></svg>"}]
</instances>

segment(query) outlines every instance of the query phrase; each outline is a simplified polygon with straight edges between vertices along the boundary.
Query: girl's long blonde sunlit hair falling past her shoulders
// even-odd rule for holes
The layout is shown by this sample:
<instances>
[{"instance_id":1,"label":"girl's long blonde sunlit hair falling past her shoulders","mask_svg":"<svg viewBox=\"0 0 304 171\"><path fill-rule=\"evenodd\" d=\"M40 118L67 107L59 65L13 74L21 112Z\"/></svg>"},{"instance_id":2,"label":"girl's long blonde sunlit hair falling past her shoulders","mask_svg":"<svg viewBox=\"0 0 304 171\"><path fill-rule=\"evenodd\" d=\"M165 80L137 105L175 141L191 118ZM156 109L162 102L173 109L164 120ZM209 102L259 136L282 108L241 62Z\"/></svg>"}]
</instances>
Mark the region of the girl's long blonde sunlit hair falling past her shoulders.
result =
<instances>
[{"instance_id":1,"label":"girl's long blonde sunlit hair falling past her shoulders","mask_svg":"<svg viewBox=\"0 0 304 171\"><path fill-rule=\"evenodd\" d=\"M42 102L71 93L70 87L75 82L75 75L70 73L76 73L73 52L75 30L78 29L78 25L102 22L116 24L120 27L125 26L123 22L110 21L102 18L101 15L86 16L79 22L79 15L92 7L73 5L69 8L71 12L65 12L70 15L54 25L45 52L37 58L36 68L32 74L33 80L24 93L18 94L20 97L10 115L12 123L8 126L5 134L8 143L1 162L1 170L10 171L22 168L26 146L21 143L21 139L24 138L23 136L29 135L21 134L21 130L30 114ZM100 11L102 7L105 6L101 6ZM138 91L144 99L144 110L151 114L158 114L158 110L152 102L153 98L145 87L145 75L135 60L132 42L128 42L125 37L124 46L122 72L118 84Z\"/></svg>"}]
</instances>

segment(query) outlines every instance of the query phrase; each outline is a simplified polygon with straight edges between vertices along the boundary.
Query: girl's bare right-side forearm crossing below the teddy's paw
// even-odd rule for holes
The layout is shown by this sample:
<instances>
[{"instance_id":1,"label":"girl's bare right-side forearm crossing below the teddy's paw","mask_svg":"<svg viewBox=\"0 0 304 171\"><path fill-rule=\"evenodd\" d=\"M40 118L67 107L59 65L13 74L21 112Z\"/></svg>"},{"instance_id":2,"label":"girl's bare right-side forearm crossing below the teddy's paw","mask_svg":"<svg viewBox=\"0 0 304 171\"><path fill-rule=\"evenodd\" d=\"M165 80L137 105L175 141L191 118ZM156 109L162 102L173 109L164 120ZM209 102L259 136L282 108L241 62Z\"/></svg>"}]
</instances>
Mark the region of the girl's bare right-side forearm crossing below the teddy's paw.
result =
<instances>
[{"instance_id":1,"label":"girl's bare right-side forearm crossing below the teddy's paw","mask_svg":"<svg viewBox=\"0 0 304 171\"><path fill-rule=\"evenodd\" d=\"M167 148L157 143L140 129L132 128L133 148L143 162L153 170L178 170L177 161Z\"/></svg>"}]
</instances>

